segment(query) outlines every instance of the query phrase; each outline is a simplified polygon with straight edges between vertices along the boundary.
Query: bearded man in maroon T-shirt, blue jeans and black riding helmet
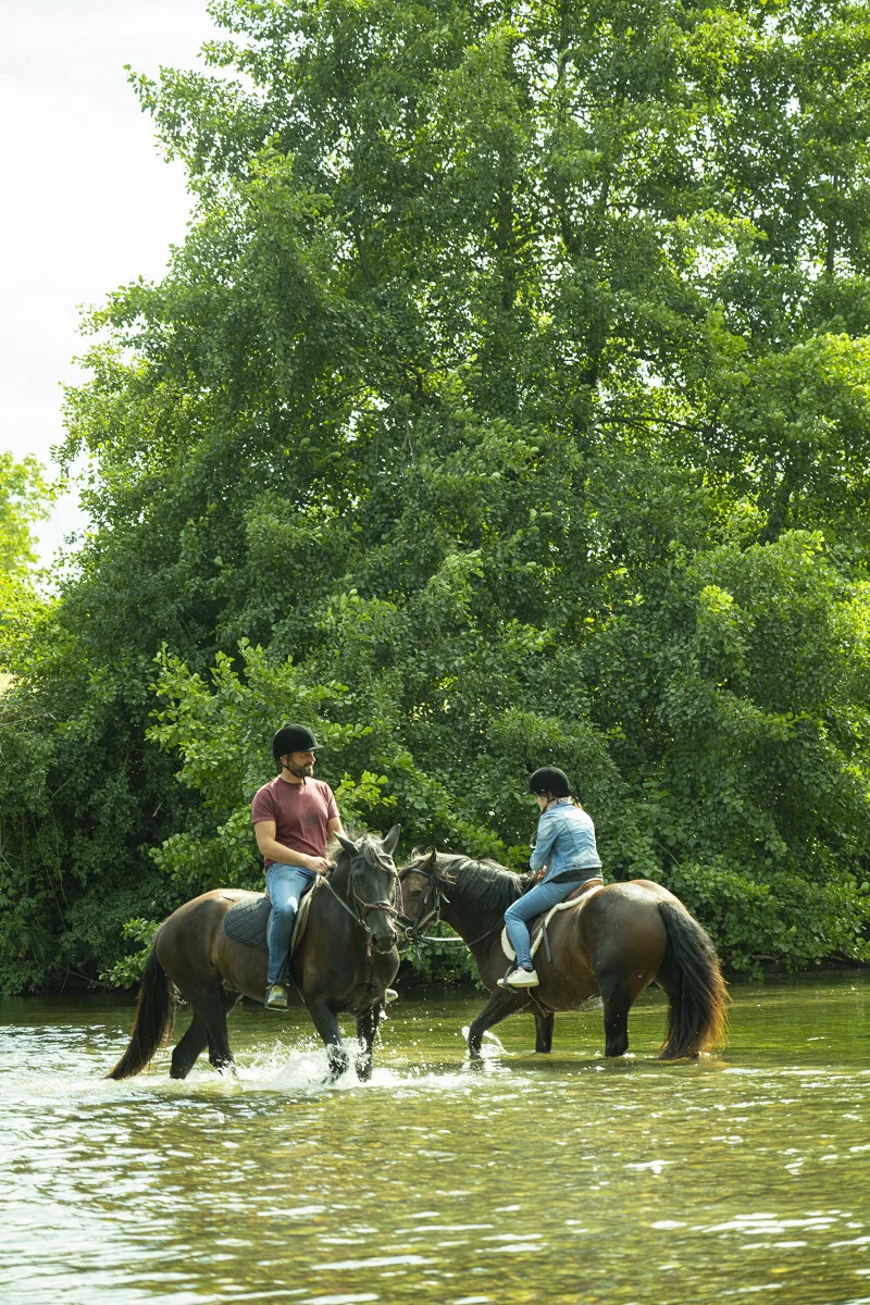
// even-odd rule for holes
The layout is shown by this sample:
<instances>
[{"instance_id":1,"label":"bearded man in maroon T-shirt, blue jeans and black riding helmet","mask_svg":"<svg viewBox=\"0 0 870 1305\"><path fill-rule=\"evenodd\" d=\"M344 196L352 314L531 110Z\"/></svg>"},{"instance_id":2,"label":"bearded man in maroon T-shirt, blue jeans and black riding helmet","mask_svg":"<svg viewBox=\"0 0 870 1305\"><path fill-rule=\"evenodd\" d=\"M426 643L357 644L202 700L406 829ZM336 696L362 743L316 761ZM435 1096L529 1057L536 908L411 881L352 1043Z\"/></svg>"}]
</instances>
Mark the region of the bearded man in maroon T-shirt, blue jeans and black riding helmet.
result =
<instances>
[{"instance_id":1,"label":"bearded man in maroon T-shirt, blue jeans and black riding helmet","mask_svg":"<svg viewBox=\"0 0 870 1305\"><path fill-rule=\"evenodd\" d=\"M271 900L265 1005L273 1010L287 1009L280 979L299 903L317 876L330 869L329 839L343 833L335 793L325 780L313 778L318 746L307 726L283 726L271 741L280 774L258 788L250 804Z\"/></svg>"}]
</instances>

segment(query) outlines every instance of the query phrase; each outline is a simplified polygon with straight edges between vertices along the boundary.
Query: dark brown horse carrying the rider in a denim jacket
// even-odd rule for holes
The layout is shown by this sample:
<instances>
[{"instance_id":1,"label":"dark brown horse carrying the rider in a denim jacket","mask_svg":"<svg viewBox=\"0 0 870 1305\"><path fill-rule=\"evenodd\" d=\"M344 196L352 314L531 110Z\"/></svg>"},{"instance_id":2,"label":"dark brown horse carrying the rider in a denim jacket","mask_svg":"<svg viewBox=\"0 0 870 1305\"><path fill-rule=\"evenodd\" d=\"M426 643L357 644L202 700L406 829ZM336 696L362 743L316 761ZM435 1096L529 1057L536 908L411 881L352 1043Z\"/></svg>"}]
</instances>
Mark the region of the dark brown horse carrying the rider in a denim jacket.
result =
<instances>
[{"instance_id":1,"label":"dark brown horse carrying the rider in a denim jacket","mask_svg":"<svg viewBox=\"0 0 870 1305\"><path fill-rule=\"evenodd\" d=\"M443 919L464 940L492 993L468 1031L468 1051L480 1056L484 1032L520 1011L535 1015L535 1051L549 1052L557 1010L578 1010L590 998L604 1004L605 1054L629 1049L629 1009L653 980L670 1002L660 1056L677 1060L721 1043L728 994L716 951L673 893L650 880L591 889L583 904L560 911L548 925L552 960L540 946L540 987L514 992L497 987L507 960L501 946L503 916L531 886L494 861L432 852L400 872L406 921L413 937Z\"/></svg>"}]
</instances>

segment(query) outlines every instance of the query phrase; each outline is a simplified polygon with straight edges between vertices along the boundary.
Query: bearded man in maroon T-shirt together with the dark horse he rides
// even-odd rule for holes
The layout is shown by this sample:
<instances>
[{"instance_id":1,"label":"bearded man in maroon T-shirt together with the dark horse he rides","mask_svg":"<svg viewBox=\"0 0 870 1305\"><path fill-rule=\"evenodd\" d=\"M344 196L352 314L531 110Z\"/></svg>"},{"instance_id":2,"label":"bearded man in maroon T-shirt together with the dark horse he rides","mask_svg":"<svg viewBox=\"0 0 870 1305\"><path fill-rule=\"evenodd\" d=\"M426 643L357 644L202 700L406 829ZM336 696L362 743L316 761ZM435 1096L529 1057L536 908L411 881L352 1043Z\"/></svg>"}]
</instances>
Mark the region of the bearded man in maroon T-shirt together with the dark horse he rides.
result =
<instances>
[{"instance_id":1,"label":"bearded man in maroon T-shirt together with the dark horse he rides","mask_svg":"<svg viewBox=\"0 0 870 1305\"><path fill-rule=\"evenodd\" d=\"M348 835L329 784L312 776L316 746L305 726L279 729L273 754L280 774L252 804L271 897L269 937L256 930L249 937L244 929L239 934L227 924L233 911L248 912L248 921L262 920L262 895L245 889L210 889L173 911L154 937L130 1040L110 1078L130 1078L145 1069L172 1032L179 998L192 1018L172 1051L172 1078L185 1078L206 1047L215 1069L232 1071L227 1015L243 997L273 1007L304 1006L326 1044L330 1081L351 1061L339 1015L353 1015L356 1073L360 1079L370 1077L383 1005L397 996L389 984L399 968L395 920L402 915L402 887L393 860L399 826L383 838ZM282 970L299 900L327 870L293 951L288 990Z\"/></svg>"}]
</instances>

